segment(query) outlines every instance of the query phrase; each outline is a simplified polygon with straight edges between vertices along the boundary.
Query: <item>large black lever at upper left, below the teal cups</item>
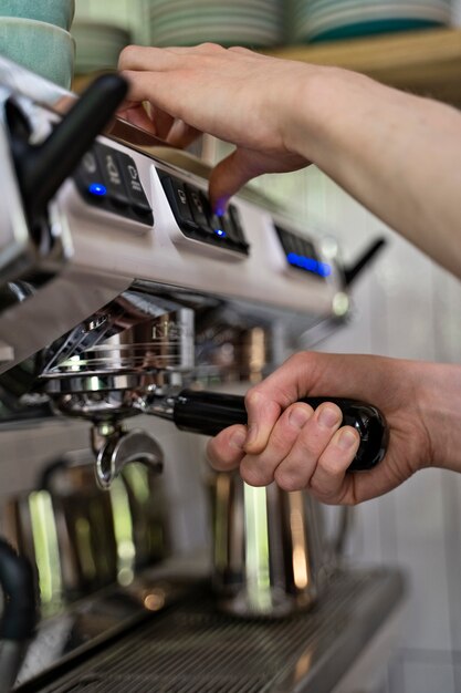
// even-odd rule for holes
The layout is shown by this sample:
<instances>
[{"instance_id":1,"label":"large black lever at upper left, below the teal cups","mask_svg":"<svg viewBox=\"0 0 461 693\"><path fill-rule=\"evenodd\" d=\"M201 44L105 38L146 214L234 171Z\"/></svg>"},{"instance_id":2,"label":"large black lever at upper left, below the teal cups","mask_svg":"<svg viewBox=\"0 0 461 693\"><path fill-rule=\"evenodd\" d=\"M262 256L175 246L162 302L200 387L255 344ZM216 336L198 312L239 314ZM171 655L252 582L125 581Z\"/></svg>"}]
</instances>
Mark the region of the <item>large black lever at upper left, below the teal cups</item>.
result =
<instances>
[{"instance_id":1,"label":"large black lever at upper left, below the teal cups","mask_svg":"<svg viewBox=\"0 0 461 693\"><path fill-rule=\"evenodd\" d=\"M38 145L29 143L28 124L20 108L12 101L7 103L11 151L30 221L43 216L49 201L111 122L127 91L128 83L117 74L97 77L48 139Z\"/></svg>"}]
</instances>

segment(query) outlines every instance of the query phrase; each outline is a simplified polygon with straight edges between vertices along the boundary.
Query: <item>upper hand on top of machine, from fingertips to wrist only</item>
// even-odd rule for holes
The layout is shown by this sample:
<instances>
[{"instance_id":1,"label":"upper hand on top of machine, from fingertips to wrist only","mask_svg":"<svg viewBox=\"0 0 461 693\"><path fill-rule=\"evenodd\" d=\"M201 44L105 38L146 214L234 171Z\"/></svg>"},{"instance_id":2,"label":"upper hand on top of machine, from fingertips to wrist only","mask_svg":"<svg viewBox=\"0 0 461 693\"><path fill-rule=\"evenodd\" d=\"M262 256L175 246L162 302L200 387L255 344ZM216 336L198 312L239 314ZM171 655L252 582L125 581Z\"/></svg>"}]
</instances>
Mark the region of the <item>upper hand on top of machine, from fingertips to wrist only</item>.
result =
<instances>
[{"instance_id":1,"label":"upper hand on top of machine, from fingertips to wrist only","mask_svg":"<svg viewBox=\"0 0 461 693\"><path fill-rule=\"evenodd\" d=\"M132 45L118 66L132 85L122 117L174 146L186 146L199 132L237 145L210 180L216 209L250 178L307 165L286 146L285 133L305 81L324 69L212 43Z\"/></svg>"}]
</instances>

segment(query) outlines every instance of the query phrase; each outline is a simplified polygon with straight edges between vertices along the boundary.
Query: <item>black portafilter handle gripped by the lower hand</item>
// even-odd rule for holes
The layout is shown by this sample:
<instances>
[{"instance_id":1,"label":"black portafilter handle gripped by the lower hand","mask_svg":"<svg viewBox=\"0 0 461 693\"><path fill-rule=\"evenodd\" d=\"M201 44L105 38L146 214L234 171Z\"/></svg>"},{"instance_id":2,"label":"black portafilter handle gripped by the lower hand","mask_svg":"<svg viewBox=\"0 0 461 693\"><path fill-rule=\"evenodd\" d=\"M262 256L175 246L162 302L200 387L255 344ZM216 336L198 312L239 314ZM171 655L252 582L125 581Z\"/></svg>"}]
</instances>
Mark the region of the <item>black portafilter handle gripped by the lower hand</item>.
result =
<instances>
[{"instance_id":1,"label":"black portafilter handle gripped by the lower hand","mask_svg":"<svg viewBox=\"0 0 461 693\"><path fill-rule=\"evenodd\" d=\"M343 412L342 425L358 431L360 445L349 472L371 469L385 456L388 428L376 406L344 397L305 397L300 402L313 408L323 402L333 402ZM172 420L181 431L217 435L233 424L247 424L248 415L242 396L184 390L175 399Z\"/></svg>"}]
</instances>

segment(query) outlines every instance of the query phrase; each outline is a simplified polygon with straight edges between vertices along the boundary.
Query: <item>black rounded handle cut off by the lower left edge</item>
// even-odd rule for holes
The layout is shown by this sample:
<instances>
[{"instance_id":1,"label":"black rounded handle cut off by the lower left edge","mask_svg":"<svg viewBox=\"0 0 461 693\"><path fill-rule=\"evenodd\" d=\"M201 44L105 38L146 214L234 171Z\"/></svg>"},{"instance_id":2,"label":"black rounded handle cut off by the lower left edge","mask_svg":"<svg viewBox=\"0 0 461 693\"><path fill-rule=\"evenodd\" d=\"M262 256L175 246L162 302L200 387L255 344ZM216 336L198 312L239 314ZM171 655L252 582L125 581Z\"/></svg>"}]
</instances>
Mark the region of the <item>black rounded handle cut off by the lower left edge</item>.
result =
<instances>
[{"instance_id":1,"label":"black rounded handle cut off by the lower left edge","mask_svg":"<svg viewBox=\"0 0 461 693\"><path fill-rule=\"evenodd\" d=\"M36 624L35 579L31 563L0 539L0 588L4 594L0 640L27 642Z\"/></svg>"}]
</instances>

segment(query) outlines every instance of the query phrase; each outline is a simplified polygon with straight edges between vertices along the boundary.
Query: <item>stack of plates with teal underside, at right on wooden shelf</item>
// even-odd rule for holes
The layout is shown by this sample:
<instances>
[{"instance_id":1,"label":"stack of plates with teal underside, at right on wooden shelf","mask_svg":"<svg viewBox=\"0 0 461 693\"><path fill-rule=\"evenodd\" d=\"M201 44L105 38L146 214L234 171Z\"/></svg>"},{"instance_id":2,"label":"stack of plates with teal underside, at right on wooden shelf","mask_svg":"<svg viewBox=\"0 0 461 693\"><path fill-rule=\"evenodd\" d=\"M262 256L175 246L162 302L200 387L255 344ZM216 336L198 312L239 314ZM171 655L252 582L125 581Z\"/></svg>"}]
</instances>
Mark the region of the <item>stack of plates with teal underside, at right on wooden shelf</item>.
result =
<instances>
[{"instance_id":1,"label":"stack of plates with teal underside, at right on wooden shelf","mask_svg":"<svg viewBox=\"0 0 461 693\"><path fill-rule=\"evenodd\" d=\"M295 43L450 23L451 0L292 0Z\"/></svg>"}]
</instances>

